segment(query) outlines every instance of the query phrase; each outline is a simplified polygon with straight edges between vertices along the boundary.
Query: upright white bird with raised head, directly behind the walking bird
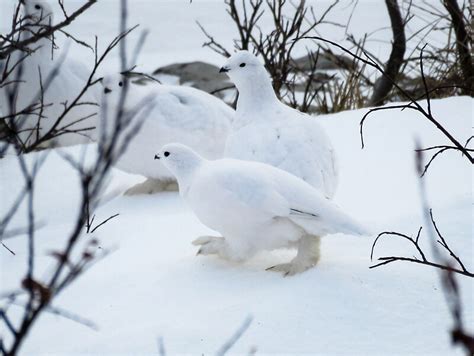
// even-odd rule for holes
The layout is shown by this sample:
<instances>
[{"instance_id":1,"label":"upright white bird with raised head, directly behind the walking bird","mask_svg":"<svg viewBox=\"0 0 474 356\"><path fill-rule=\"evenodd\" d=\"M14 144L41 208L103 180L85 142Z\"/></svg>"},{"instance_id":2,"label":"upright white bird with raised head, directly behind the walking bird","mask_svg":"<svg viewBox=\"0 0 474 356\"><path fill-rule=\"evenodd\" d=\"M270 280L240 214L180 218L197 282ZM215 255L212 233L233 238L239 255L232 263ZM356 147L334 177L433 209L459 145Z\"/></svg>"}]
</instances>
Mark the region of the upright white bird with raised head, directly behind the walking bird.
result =
<instances>
[{"instance_id":1,"label":"upright white bird with raised head, directly behind the walking bird","mask_svg":"<svg viewBox=\"0 0 474 356\"><path fill-rule=\"evenodd\" d=\"M220 71L239 91L224 155L281 168L333 197L335 153L316 120L278 100L265 67L248 51L236 52Z\"/></svg>"}]
</instances>

